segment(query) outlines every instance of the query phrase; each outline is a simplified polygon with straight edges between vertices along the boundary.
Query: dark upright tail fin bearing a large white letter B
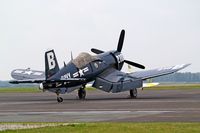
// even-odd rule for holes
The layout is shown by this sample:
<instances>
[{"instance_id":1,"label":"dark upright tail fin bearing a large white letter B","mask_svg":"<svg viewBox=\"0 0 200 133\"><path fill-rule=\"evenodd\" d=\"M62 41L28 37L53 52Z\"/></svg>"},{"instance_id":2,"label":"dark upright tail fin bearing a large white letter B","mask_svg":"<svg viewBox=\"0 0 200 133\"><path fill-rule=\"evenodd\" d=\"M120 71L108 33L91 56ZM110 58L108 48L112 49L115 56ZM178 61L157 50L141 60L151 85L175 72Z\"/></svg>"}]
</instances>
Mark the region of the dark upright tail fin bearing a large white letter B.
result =
<instances>
[{"instance_id":1,"label":"dark upright tail fin bearing a large white letter B","mask_svg":"<svg viewBox=\"0 0 200 133\"><path fill-rule=\"evenodd\" d=\"M54 50L45 52L45 76L46 79L59 71L58 62Z\"/></svg>"}]
</instances>

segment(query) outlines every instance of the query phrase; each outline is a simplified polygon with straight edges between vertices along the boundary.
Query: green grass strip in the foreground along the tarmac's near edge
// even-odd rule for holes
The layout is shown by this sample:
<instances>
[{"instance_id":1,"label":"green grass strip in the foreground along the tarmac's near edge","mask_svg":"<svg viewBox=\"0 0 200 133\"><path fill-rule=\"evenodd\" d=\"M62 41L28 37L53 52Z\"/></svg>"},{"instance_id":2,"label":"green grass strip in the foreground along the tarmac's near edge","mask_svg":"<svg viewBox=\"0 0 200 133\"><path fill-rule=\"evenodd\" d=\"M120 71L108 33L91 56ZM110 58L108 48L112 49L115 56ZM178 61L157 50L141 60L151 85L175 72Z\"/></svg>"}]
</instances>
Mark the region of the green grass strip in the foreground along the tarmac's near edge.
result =
<instances>
[{"instance_id":1,"label":"green grass strip in the foreground along the tarmac's near edge","mask_svg":"<svg viewBox=\"0 0 200 133\"><path fill-rule=\"evenodd\" d=\"M1 133L200 133L200 123L80 123Z\"/></svg>"}]
</instances>

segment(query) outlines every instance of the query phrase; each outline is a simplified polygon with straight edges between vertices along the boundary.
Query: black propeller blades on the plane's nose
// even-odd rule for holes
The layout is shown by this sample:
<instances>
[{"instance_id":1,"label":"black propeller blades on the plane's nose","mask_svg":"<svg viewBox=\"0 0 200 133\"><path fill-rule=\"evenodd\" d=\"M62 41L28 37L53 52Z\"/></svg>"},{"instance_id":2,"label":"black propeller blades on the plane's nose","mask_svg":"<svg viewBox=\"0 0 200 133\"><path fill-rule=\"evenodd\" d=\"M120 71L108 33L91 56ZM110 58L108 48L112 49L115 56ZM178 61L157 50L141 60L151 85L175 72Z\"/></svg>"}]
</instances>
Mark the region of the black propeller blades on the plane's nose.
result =
<instances>
[{"instance_id":1,"label":"black propeller blades on the plane's nose","mask_svg":"<svg viewBox=\"0 0 200 133\"><path fill-rule=\"evenodd\" d=\"M116 56L119 55L117 53L121 54L123 44L124 44L124 37L125 37L125 30L121 30L118 45L117 45L117 51L114 53ZM104 53L104 51L96 49L96 48L92 48L91 51L95 54ZM132 62L132 61L129 61L129 60L124 60L123 62L119 62L119 64L124 63L124 62L131 65L131 66L138 67L138 68L141 68L141 69L145 69L145 66L138 64L138 63L135 63L135 62ZM119 64L118 64L118 67L119 67Z\"/></svg>"}]
</instances>

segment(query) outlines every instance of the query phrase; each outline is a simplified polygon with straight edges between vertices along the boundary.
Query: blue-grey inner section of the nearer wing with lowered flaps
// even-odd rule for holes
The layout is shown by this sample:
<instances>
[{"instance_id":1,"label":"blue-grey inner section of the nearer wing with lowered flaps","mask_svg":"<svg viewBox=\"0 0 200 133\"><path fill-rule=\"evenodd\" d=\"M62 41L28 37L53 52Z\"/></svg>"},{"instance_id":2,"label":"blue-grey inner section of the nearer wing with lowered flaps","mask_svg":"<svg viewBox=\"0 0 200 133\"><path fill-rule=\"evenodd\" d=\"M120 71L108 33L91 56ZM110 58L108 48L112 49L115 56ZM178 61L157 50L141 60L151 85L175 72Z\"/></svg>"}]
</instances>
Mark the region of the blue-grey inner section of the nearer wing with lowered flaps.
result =
<instances>
[{"instance_id":1,"label":"blue-grey inner section of the nearer wing with lowered flaps","mask_svg":"<svg viewBox=\"0 0 200 133\"><path fill-rule=\"evenodd\" d=\"M136 78L128 73L110 68L98 75L93 87L106 92L122 92L142 87L142 79Z\"/></svg>"}]
</instances>

